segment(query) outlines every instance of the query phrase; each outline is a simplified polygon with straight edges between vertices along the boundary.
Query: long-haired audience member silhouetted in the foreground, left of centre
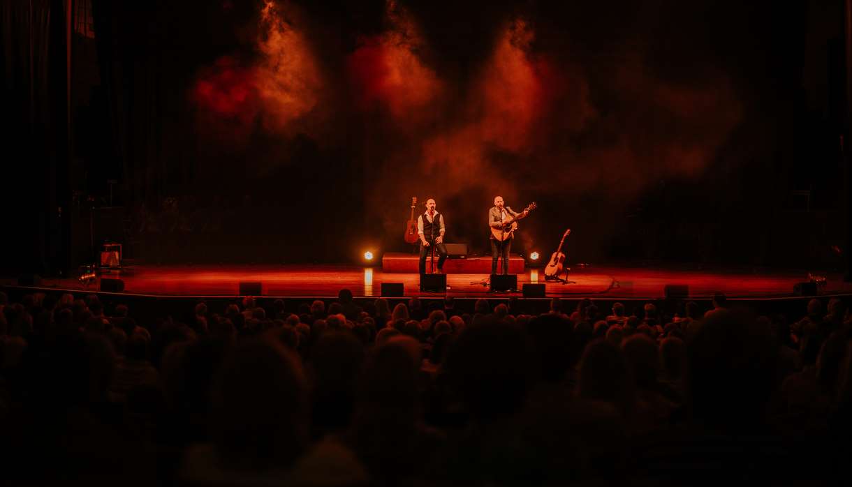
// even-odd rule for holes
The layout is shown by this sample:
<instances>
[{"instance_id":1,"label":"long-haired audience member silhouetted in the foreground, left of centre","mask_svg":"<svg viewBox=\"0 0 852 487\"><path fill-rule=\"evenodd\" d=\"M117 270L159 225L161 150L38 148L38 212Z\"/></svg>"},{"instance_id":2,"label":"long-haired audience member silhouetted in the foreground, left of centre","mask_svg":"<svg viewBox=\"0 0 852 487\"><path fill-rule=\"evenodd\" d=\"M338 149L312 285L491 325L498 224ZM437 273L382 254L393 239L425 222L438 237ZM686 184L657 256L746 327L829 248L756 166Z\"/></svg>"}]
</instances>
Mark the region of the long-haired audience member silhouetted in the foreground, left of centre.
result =
<instances>
[{"instance_id":1,"label":"long-haired audience member silhouetted in the foreground, left of centre","mask_svg":"<svg viewBox=\"0 0 852 487\"><path fill-rule=\"evenodd\" d=\"M275 341L240 344L213 387L212 444L187 451L193 485L362 484L366 473L343 444L309 446L308 384L298 359ZM317 467L325 462L334 468Z\"/></svg>"}]
</instances>

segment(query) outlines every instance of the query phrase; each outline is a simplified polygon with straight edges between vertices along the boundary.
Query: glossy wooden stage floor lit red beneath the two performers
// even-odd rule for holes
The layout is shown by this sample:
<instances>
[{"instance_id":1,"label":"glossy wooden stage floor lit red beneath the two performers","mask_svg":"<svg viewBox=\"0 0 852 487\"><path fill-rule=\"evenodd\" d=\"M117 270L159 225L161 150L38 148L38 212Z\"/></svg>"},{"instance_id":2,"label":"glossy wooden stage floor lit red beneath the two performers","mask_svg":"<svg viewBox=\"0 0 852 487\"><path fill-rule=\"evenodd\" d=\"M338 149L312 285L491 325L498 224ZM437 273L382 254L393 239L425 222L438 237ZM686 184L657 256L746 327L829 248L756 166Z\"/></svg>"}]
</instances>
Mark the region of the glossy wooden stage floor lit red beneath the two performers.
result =
<instances>
[{"instance_id":1,"label":"glossy wooden stage floor lit red beneath the two performers","mask_svg":"<svg viewBox=\"0 0 852 487\"><path fill-rule=\"evenodd\" d=\"M402 283L406 296L437 296L419 290L417 273L387 273L381 268L362 266L290 265L290 266L132 266L110 277L124 281L124 293L132 295L239 295L239 283L262 283L265 296L331 297L343 288L355 296L379 296L382 283ZM447 295L458 297L518 295L489 293L487 274L447 274ZM675 268L630 266L573 267L573 284L546 283L548 297L606 297L619 299L655 299L665 297L666 284L686 284L689 296L705 299L717 291L731 298L777 298L792 296L794 284L808 279L807 272L701 271ZM843 283L839 274L827 274L820 295L852 294L852 284ZM2 284L17 284L14 278L0 279ZM544 283L540 269L518 274L518 289L527 283ZM98 291L97 282L85 286L75 278L45 278L40 287ZM442 294L440 294L442 295Z\"/></svg>"}]
</instances>

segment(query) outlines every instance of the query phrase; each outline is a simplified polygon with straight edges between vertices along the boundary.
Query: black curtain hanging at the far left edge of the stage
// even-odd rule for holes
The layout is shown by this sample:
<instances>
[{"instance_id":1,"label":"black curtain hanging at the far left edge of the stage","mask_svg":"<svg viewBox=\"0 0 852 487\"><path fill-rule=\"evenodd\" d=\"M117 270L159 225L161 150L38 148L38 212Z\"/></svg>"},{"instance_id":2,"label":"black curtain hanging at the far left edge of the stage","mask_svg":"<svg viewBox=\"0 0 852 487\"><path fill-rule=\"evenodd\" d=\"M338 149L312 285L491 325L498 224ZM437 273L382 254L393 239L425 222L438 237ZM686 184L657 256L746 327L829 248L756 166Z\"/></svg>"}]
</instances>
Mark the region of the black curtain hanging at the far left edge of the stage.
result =
<instances>
[{"instance_id":1,"label":"black curtain hanging at the far left edge of the stage","mask_svg":"<svg viewBox=\"0 0 852 487\"><path fill-rule=\"evenodd\" d=\"M61 0L0 3L4 272L66 267L66 12Z\"/></svg>"}]
</instances>

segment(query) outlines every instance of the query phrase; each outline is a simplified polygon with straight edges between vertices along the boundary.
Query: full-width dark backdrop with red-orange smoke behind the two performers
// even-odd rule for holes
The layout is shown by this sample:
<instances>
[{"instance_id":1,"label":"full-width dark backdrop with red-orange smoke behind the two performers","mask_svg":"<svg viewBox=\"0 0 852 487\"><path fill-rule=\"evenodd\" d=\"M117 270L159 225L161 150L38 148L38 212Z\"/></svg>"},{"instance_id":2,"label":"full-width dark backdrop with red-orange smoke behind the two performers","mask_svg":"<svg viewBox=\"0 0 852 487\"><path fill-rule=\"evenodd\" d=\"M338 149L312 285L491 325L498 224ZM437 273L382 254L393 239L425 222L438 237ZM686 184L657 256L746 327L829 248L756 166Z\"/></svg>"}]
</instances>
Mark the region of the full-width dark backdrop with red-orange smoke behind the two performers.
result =
<instances>
[{"instance_id":1,"label":"full-width dark backdrop with red-orange smoke behind the two performers","mask_svg":"<svg viewBox=\"0 0 852 487\"><path fill-rule=\"evenodd\" d=\"M10 269L351 261L412 196L485 252L495 194L515 251L841 266L842 2L92 0L70 65L65 8L0 12Z\"/></svg>"}]
</instances>

